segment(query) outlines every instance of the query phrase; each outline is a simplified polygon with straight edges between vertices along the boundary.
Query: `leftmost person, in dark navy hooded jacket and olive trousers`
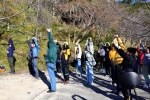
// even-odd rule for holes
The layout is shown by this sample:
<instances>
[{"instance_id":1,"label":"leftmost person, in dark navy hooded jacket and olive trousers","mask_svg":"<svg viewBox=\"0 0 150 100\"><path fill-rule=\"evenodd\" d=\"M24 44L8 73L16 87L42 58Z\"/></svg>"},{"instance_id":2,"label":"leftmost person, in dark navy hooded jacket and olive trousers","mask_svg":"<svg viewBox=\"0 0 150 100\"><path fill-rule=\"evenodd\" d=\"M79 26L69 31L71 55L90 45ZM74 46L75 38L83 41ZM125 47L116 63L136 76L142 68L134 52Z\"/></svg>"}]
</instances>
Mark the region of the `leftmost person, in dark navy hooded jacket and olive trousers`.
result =
<instances>
[{"instance_id":1,"label":"leftmost person, in dark navy hooded jacket and olive trousers","mask_svg":"<svg viewBox=\"0 0 150 100\"><path fill-rule=\"evenodd\" d=\"M14 47L14 44L13 44L13 40L12 38L10 38L8 40L8 50L7 50L7 58L8 58L8 63L9 63L9 66L10 66L10 74L15 74L15 57L13 55L14 53L14 50L15 50L15 47Z\"/></svg>"}]
</instances>

